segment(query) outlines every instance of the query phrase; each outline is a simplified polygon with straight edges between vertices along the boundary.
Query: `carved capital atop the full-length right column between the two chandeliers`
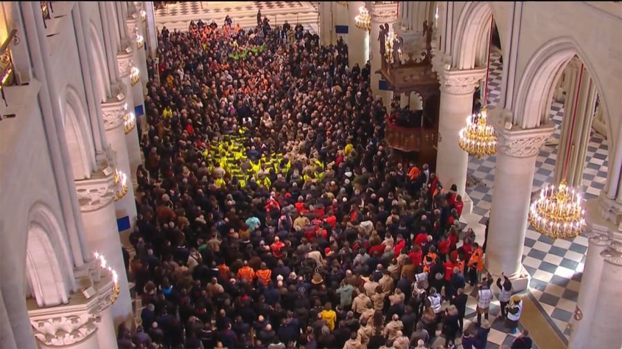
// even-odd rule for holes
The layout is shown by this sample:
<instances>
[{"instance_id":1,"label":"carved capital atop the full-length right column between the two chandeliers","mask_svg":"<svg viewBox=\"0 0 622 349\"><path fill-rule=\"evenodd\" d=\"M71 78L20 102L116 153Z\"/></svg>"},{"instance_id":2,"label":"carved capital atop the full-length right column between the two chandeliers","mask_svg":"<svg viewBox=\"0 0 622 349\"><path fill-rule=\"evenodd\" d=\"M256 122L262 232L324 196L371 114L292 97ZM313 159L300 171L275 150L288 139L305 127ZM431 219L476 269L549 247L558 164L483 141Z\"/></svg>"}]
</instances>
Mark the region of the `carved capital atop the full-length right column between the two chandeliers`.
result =
<instances>
[{"instance_id":1,"label":"carved capital atop the full-length right column between the two chandeliers","mask_svg":"<svg viewBox=\"0 0 622 349\"><path fill-rule=\"evenodd\" d=\"M512 126L505 128L505 123L500 117L502 111L489 112L489 120L493 121L497 135L497 150L513 158L529 158L538 155L540 147L545 144L554 131L552 121L540 125L536 129L521 129Z\"/></svg>"}]
</instances>

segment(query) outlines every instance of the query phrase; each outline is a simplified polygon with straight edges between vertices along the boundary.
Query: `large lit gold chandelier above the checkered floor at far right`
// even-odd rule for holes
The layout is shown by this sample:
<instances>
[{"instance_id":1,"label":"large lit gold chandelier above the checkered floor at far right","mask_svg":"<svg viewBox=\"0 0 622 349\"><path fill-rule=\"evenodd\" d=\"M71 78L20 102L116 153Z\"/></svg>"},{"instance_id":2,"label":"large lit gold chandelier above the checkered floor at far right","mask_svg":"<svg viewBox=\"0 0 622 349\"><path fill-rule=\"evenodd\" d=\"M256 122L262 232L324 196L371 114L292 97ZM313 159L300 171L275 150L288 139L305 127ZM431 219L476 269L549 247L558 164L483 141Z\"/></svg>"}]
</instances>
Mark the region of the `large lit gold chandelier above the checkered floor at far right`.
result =
<instances>
[{"instance_id":1,"label":"large lit gold chandelier above the checkered floor at far right","mask_svg":"<svg viewBox=\"0 0 622 349\"><path fill-rule=\"evenodd\" d=\"M531 204L529 224L536 232L556 238L574 238L585 227L585 209L581 194L562 180L540 191L540 198Z\"/></svg>"}]
</instances>

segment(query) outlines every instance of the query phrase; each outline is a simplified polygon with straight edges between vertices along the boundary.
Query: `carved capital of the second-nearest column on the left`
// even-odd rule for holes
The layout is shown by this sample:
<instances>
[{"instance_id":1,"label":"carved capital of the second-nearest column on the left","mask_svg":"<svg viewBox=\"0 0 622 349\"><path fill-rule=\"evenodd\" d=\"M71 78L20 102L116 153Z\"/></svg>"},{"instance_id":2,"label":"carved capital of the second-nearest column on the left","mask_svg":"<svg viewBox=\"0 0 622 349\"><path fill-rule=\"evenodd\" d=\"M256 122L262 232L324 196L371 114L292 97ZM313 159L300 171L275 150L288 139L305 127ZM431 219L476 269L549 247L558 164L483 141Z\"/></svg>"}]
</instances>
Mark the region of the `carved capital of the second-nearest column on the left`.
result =
<instances>
[{"instance_id":1,"label":"carved capital of the second-nearest column on the left","mask_svg":"<svg viewBox=\"0 0 622 349\"><path fill-rule=\"evenodd\" d=\"M88 180L76 180L75 191L80 211L95 211L109 205L115 198L114 169L108 167L111 173L106 176L103 170L97 171Z\"/></svg>"}]
</instances>

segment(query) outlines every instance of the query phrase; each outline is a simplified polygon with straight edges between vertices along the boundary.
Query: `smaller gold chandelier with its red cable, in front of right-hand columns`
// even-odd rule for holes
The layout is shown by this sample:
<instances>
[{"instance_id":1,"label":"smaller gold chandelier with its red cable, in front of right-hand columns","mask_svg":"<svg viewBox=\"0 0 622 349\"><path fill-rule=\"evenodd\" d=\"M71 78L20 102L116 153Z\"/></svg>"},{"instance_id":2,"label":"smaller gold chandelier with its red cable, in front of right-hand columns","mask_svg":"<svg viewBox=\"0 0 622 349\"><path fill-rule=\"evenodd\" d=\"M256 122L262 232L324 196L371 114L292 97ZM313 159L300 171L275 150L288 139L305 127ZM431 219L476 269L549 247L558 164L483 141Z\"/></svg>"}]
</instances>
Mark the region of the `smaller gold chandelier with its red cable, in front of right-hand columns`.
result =
<instances>
[{"instance_id":1,"label":"smaller gold chandelier with its red cable, in front of right-hand columns","mask_svg":"<svg viewBox=\"0 0 622 349\"><path fill-rule=\"evenodd\" d=\"M486 82L484 84L484 99L482 111L466 117L466 126L460 130L458 145L462 150L481 159L484 155L493 155L497 152L497 136L493 126L486 123L486 106L488 101L488 77L490 71L490 51L492 46L493 19L490 20L490 38L488 45L488 63L486 68Z\"/></svg>"}]
</instances>

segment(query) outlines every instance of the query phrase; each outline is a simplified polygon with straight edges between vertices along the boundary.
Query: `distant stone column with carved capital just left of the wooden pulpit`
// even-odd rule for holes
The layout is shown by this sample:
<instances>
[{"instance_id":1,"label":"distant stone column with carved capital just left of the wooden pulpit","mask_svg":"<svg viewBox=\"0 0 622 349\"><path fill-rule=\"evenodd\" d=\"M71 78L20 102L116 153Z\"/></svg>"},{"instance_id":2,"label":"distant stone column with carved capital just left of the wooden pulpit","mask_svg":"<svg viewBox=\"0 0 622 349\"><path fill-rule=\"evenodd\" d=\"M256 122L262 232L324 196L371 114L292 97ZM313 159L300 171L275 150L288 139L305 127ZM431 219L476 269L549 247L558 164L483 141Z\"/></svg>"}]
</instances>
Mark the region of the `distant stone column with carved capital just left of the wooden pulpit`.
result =
<instances>
[{"instance_id":1,"label":"distant stone column with carved capital just left of the wooden pulpit","mask_svg":"<svg viewBox=\"0 0 622 349\"><path fill-rule=\"evenodd\" d=\"M373 1L367 1L366 3L371 15L371 31L369 34L369 62L371 65L370 85L372 93L374 95L380 95L384 104L390 105L390 100L393 97L393 91L380 90L379 87L382 75L377 73L377 71L380 70L382 60L384 59L380 53L381 41L379 41L379 36L380 26L388 24L389 28L392 28L393 22L397 19L397 6L396 4L377 4ZM393 37L387 33L386 40L393 40Z\"/></svg>"}]
</instances>

